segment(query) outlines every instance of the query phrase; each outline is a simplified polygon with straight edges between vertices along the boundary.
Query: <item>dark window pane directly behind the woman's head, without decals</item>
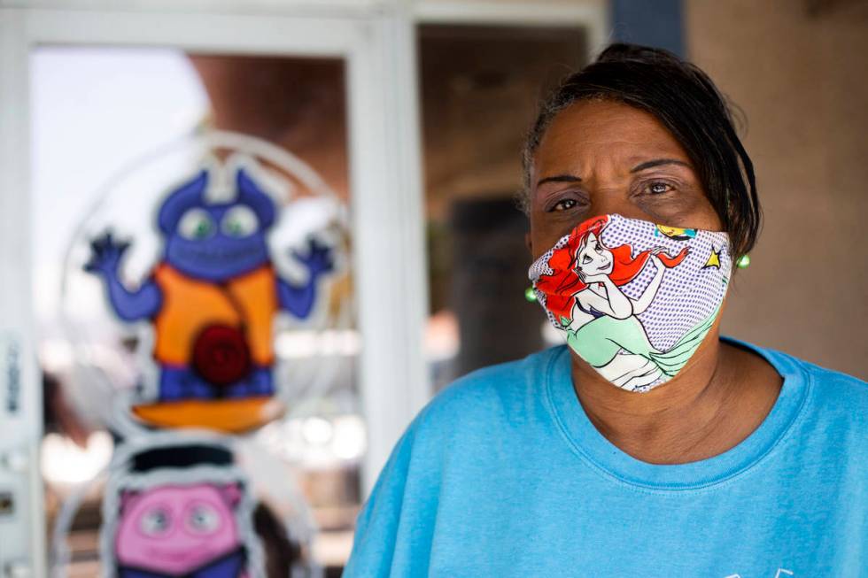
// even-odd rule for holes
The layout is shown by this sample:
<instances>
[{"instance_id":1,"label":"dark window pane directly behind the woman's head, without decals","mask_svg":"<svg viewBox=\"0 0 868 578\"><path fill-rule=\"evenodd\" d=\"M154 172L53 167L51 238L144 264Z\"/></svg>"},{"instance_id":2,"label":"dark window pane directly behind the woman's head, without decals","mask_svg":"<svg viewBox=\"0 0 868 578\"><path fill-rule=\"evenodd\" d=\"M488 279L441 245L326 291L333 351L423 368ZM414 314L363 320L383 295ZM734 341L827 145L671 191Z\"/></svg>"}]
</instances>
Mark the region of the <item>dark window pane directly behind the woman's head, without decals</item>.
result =
<instances>
[{"instance_id":1,"label":"dark window pane directly behind the woman's head, without decals","mask_svg":"<svg viewBox=\"0 0 868 578\"><path fill-rule=\"evenodd\" d=\"M545 318L524 298L531 259L515 194L537 104L585 63L585 45L568 27L419 27L438 388L544 344Z\"/></svg>"}]
</instances>

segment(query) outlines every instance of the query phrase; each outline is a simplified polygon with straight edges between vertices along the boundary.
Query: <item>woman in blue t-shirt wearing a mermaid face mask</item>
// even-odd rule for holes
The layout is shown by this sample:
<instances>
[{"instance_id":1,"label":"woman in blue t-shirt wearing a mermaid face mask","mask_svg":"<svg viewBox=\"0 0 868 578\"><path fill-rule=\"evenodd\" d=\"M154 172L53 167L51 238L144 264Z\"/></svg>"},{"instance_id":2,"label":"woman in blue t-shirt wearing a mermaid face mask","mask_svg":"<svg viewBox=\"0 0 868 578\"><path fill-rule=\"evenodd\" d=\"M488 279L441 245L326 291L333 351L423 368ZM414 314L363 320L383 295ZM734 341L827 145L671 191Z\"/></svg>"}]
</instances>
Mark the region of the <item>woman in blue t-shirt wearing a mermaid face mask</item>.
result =
<instances>
[{"instance_id":1,"label":"woman in blue t-shirt wearing a mermaid face mask","mask_svg":"<svg viewBox=\"0 0 868 578\"><path fill-rule=\"evenodd\" d=\"M531 281L568 345L417 416L345 575L868 575L868 387L719 337L760 212L709 78L611 46L525 153Z\"/></svg>"}]
</instances>

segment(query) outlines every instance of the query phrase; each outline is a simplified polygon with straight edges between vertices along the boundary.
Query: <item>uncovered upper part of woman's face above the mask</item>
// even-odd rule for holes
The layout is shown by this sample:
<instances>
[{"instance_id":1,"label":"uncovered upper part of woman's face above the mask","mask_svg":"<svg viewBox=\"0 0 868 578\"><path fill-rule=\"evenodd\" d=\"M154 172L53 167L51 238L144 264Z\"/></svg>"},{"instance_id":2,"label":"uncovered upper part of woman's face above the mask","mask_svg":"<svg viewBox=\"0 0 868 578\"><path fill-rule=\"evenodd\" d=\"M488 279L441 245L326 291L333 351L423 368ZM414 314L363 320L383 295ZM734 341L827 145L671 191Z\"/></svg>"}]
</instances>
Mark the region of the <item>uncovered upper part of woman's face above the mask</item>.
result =
<instances>
[{"instance_id":1,"label":"uncovered upper part of woman's face above the mask","mask_svg":"<svg viewBox=\"0 0 868 578\"><path fill-rule=\"evenodd\" d=\"M578 223L610 213L722 228L686 151L653 115L606 101L571 104L547 128L531 166L533 258Z\"/></svg>"}]
</instances>

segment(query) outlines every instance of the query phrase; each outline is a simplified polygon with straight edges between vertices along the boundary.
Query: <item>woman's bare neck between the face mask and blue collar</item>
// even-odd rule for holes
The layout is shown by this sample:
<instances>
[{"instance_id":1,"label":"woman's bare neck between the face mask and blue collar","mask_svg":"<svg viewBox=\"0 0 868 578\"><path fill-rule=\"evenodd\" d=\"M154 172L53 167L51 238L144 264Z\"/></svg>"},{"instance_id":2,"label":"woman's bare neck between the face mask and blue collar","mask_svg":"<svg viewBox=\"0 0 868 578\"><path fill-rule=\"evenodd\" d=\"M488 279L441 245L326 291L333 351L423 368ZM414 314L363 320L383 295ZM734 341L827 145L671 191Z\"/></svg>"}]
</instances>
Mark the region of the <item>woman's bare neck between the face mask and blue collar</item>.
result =
<instances>
[{"instance_id":1,"label":"woman's bare neck between the face mask and blue collar","mask_svg":"<svg viewBox=\"0 0 868 578\"><path fill-rule=\"evenodd\" d=\"M782 383L763 358L720 342L717 326L678 375L647 393L617 389L572 355L573 387L593 425L652 464L683 464L731 449L762 423Z\"/></svg>"}]
</instances>

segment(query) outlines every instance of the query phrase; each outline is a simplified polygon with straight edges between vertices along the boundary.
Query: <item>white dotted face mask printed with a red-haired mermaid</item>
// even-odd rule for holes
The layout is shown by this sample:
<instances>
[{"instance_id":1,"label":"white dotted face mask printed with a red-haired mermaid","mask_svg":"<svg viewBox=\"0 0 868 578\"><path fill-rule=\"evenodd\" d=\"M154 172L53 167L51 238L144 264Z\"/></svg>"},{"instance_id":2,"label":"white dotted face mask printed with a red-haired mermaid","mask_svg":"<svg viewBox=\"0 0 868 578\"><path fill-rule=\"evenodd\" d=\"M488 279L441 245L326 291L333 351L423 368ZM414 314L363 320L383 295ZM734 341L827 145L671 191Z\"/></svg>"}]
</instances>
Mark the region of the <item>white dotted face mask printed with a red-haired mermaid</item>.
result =
<instances>
[{"instance_id":1,"label":"white dotted face mask printed with a red-haired mermaid","mask_svg":"<svg viewBox=\"0 0 868 578\"><path fill-rule=\"evenodd\" d=\"M528 274L573 351L617 387L648 391L708 334L731 266L726 233L613 214L578 225Z\"/></svg>"}]
</instances>

